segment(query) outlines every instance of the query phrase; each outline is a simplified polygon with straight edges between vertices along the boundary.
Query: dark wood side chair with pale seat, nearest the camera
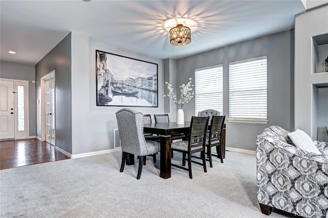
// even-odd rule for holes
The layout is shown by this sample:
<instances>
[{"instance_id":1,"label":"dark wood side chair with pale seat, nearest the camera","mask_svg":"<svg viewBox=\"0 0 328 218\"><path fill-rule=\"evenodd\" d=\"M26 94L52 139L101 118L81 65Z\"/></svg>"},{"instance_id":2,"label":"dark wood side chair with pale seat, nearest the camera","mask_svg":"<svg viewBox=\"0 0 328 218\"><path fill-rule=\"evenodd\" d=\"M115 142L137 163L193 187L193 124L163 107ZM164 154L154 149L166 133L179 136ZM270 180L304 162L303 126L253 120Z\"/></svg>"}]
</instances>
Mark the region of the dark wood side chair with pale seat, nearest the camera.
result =
<instances>
[{"instance_id":1,"label":"dark wood side chair with pale seat, nearest the camera","mask_svg":"<svg viewBox=\"0 0 328 218\"><path fill-rule=\"evenodd\" d=\"M172 163L171 166L175 166L180 169L189 171L190 179L193 178L191 171L191 162L202 165L204 168L204 172L207 172L205 160L205 142L208 124L209 117L192 116L188 141L183 140L178 142L172 142L171 144L171 150L182 152L182 166ZM192 160L192 154L195 154L196 152L200 152L202 163ZM188 156L187 158L186 155ZM188 161L188 167L185 167L186 160Z\"/></svg>"}]
</instances>

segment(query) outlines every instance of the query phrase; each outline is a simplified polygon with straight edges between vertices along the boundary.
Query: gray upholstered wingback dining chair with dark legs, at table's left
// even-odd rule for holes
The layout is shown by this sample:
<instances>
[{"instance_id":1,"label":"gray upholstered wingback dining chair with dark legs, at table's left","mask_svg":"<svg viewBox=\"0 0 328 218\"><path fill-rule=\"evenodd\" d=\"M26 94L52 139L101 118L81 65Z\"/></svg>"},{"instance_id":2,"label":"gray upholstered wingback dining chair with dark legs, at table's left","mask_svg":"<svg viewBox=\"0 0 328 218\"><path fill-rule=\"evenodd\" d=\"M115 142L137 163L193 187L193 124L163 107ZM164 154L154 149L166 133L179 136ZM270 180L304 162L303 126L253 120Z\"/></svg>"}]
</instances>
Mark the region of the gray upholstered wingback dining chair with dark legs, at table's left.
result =
<instances>
[{"instance_id":1,"label":"gray upholstered wingback dining chair with dark legs, at table's left","mask_svg":"<svg viewBox=\"0 0 328 218\"><path fill-rule=\"evenodd\" d=\"M159 143L148 141L144 136L144 115L130 108L122 108L116 112L118 132L121 140L122 162L120 172L124 170L129 154L139 157L137 180L140 179L142 163L146 164L146 156L156 154Z\"/></svg>"}]
</instances>

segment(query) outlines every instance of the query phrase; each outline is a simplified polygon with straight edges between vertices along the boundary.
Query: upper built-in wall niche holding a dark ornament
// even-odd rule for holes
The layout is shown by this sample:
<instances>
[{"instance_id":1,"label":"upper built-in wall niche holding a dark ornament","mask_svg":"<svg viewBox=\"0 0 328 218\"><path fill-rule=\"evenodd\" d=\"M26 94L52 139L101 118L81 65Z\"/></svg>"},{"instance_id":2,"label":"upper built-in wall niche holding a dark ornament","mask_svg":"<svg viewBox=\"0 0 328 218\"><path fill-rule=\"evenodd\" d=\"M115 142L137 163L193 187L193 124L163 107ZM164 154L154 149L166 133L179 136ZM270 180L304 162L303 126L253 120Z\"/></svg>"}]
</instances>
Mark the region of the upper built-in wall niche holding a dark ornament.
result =
<instances>
[{"instance_id":1,"label":"upper built-in wall niche holding a dark ornament","mask_svg":"<svg viewBox=\"0 0 328 218\"><path fill-rule=\"evenodd\" d=\"M312 73L325 72L325 59L328 57L328 33L312 37Z\"/></svg>"}]
</instances>

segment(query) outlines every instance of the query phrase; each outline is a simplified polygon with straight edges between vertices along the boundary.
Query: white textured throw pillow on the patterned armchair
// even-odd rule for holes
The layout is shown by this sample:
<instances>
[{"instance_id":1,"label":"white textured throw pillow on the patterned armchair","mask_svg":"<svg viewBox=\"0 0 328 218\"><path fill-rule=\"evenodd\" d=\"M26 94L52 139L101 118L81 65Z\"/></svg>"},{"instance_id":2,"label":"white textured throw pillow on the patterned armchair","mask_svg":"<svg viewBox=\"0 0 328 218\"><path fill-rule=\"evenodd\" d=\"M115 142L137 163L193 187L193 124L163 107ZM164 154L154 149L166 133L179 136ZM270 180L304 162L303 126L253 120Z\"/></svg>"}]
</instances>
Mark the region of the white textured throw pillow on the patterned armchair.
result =
<instances>
[{"instance_id":1,"label":"white textured throw pillow on the patterned armchair","mask_svg":"<svg viewBox=\"0 0 328 218\"><path fill-rule=\"evenodd\" d=\"M304 133L300 129L296 129L295 132L288 133L288 138L292 140L296 147L313 152L315 154L321 155L321 152L318 150L317 146L313 143L310 136Z\"/></svg>"}]
</instances>

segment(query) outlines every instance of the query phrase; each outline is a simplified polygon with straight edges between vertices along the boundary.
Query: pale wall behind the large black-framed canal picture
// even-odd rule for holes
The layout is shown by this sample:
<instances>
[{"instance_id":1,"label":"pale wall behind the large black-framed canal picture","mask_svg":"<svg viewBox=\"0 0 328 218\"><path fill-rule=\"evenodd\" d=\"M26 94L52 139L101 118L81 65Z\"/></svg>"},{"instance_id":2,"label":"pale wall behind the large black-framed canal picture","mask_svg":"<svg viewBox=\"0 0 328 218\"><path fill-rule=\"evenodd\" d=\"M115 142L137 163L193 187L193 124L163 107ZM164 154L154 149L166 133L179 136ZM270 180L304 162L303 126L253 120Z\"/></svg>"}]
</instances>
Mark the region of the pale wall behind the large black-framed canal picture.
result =
<instances>
[{"instance_id":1,"label":"pale wall behind the large black-framed canal picture","mask_svg":"<svg viewBox=\"0 0 328 218\"><path fill-rule=\"evenodd\" d=\"M158 107L132 107L144 114L163 111L163 63L161 59L90 41L72 32L72 155L114 148L115 113L122 107L96 106L96 50L158 64Z\"/></svg>"}]
</instances>

